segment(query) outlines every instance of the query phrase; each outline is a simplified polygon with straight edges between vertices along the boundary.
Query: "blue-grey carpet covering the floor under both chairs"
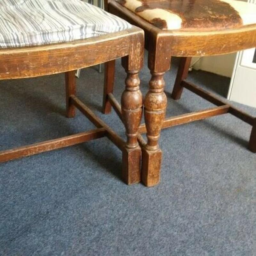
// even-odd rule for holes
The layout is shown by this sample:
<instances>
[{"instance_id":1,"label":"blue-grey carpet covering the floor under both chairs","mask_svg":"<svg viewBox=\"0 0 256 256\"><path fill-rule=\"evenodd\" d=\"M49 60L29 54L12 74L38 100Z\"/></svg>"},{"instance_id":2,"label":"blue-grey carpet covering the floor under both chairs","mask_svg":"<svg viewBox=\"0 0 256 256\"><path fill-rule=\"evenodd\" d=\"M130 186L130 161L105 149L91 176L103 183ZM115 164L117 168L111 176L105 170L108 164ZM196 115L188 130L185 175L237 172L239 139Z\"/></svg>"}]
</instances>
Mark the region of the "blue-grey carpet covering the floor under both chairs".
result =
<instances>
[{"instance_id":1,"label":"blue-grey carpet covering the floor under both chairs","mask_svg":"<svg viewBox=\"0 0 256 256\"><path fill-rule=\"evenodd\" d=\"M172 66L167 116L212 107L187 90L170 99L176 59ZM116 68L120 99L125 72L120 61ZM146 66L140 78L145 94ZM223 96L229 84L202 71L189 80ZM84 69L77 83L78 97L125 137L114 111L100 113L103 74ZM63 74L0 81L0 108L1 150L94 127L79 112L64 116ZM0 255L255 255L250 132L231 115L164 130L154 188L120 180L121 152L106 138L0 164Z\"/></svg>"}]
</instances>

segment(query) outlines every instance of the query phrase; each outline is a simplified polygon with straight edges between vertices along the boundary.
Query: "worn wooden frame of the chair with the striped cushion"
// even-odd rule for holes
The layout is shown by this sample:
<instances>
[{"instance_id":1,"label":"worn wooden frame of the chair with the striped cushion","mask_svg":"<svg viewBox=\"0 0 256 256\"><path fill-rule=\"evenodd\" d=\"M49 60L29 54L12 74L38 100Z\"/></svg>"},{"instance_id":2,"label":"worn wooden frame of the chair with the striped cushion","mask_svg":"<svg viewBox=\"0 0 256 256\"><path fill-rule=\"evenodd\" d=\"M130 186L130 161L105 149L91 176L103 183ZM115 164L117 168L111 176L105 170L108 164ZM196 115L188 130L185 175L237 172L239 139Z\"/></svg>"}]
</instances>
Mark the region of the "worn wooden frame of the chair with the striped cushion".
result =
<instances>
[{"instance_id":1,"label":"worn wooden frame of the chair with the striped cushion","mask_svg":"<svg viewBox=\"0 0 256 256\"><path fill-rule=\"evenodd\" d=\"M72 1L72 3L74 2ZM96 9L94 11L100 12ZM105 14L103 13L102 15ZM106 22L106 18L108 17L104 17L104 22ZM121 23L123 22L125 21L121 21ZM80 28L78 31L80 31ZM63 34L63 31L61 33ZM37 43L37 41L34 43ZM0 49L1 80L65 72L67 117L75 117L77 108L96 126L96 129L88 132L1 151L0 162L31 156L106 136L123 152L122 174L124 181L127 184L139 182L141 149L137 142L137 134L142 116L143 99L139 89L140 80L138 72L143 65L143 45L143 30L129 24L128 29L104 33L103 35L87 39ZM117 58L122 58L122 65L127 73L121 104L122 118L127 134L126 142L76 97L76 69L90 67Z\"/></svg>"}]
</instances>

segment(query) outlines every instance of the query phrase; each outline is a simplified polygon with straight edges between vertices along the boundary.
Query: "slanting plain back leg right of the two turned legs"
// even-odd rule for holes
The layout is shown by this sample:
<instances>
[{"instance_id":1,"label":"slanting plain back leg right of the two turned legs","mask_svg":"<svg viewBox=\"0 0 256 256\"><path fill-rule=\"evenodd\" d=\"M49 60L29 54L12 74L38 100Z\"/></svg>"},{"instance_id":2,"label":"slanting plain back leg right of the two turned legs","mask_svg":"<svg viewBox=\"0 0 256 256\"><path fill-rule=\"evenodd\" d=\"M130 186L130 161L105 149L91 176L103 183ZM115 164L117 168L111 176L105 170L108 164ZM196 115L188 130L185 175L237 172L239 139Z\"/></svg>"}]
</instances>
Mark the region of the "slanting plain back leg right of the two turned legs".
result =
<instances>
[{"instance_id":1,"label":"slanting plain back leg right of the two turned legs","mask_svg":"<svg viewBox=\"0 0 256 256\"><path fill-rule=\"evenodd\" d=\"M179 100L181 97L183 87L180 84L183 80L187 79L188 77L188 69L191 63L191 59L192 59L191 57L182 57L180 60L178 73L177 73L175 84L172 90L173 100Z\"/></svg>"}]
</instances>

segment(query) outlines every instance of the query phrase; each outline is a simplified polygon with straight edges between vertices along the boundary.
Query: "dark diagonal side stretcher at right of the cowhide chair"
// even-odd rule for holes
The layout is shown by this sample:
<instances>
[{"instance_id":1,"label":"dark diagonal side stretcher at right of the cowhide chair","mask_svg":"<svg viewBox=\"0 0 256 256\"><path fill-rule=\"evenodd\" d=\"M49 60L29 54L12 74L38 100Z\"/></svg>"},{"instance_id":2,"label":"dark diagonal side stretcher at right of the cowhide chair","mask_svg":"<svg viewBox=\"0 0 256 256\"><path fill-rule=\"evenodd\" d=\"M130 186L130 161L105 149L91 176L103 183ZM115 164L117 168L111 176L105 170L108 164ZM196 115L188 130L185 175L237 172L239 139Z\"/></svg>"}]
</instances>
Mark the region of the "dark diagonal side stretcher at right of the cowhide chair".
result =
<instances>
[{"instance_id":1,"label":"dark diagonal side stretcher at right of the cowhide chair","mask_svg":"<svg viewBox=\"0 0 256 256\"><path fill-rule=\"evenodd\" d=\"M182 84L183 87L185 87L189 91L194 92L198 96L204 98L205 100L208 100L208 101L212 102L213 104L215 104L217 106L227 104L227 102L220 99L219 97L217 97L213 93L207 92L207 91L205 91L204 89L200 88L199 86L197 86L195 84L188 83L187 81L182 81L181 84ZM244 111L232 106L229 103L227 105L229 106L229 111L228 112L230 114L232 114L233 116L236 116L237 118L241 119L242 121L244 121L247 124L253 125L253 122L254 122L254 117L253 116L251 116L251 115L245 113Z\"/></svg>"}]
</instances>

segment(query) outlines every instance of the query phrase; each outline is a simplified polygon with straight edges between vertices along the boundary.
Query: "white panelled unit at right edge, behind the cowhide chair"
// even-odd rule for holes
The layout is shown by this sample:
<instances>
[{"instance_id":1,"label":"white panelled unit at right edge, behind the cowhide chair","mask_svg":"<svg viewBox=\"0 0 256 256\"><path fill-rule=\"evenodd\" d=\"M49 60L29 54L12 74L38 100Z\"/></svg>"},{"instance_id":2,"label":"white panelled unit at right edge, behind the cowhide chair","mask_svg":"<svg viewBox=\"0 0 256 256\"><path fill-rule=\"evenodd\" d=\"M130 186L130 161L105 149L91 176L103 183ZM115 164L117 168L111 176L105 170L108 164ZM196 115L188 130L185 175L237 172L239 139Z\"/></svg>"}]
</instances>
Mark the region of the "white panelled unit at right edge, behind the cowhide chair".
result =
<instances>
[{"instance_id":1,"label":"white panelled unit at right edge, behind the cowhide chair","mask_svg":"<svg viewBox=\"0 0 256 256\"><path fill-rule=\"evenodd\" d=\"M237 54L228 99L256 108L256 48Z\"/></svg>"}]
</instances>

